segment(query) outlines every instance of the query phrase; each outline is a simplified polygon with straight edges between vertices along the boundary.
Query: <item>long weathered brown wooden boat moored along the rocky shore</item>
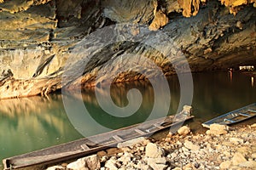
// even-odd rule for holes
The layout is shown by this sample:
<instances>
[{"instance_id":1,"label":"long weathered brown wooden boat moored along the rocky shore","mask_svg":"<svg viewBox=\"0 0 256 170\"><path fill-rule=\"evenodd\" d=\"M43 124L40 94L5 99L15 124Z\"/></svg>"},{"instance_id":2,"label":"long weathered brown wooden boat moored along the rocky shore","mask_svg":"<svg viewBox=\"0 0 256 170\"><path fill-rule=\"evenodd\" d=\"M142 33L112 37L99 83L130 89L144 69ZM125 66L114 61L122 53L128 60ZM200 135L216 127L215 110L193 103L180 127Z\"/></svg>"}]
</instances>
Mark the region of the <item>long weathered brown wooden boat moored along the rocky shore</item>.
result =
<instances>
[{"instance_id":1,"label":"long weathered brown wooden boat moored along the rocky shore","mask_svg":"<svg viewBox=\"0 0 256 170\"><path fill-rule=\"evenodd\" d=\"M117 144L136 139L142 136L149 136L166 127L179 126L186 120L191 119L190 113L182 111L176 116L166 116L163 118L139 123L130 127L123 127L108 133L102 133L89 138L75 140L67 144L60 144L43 150L33 151L20 156L13 156L3 160L5 170L19 169L25 167L42 167L45 165L77 159L105 150Z\"/></svg>"}]
</instances>

